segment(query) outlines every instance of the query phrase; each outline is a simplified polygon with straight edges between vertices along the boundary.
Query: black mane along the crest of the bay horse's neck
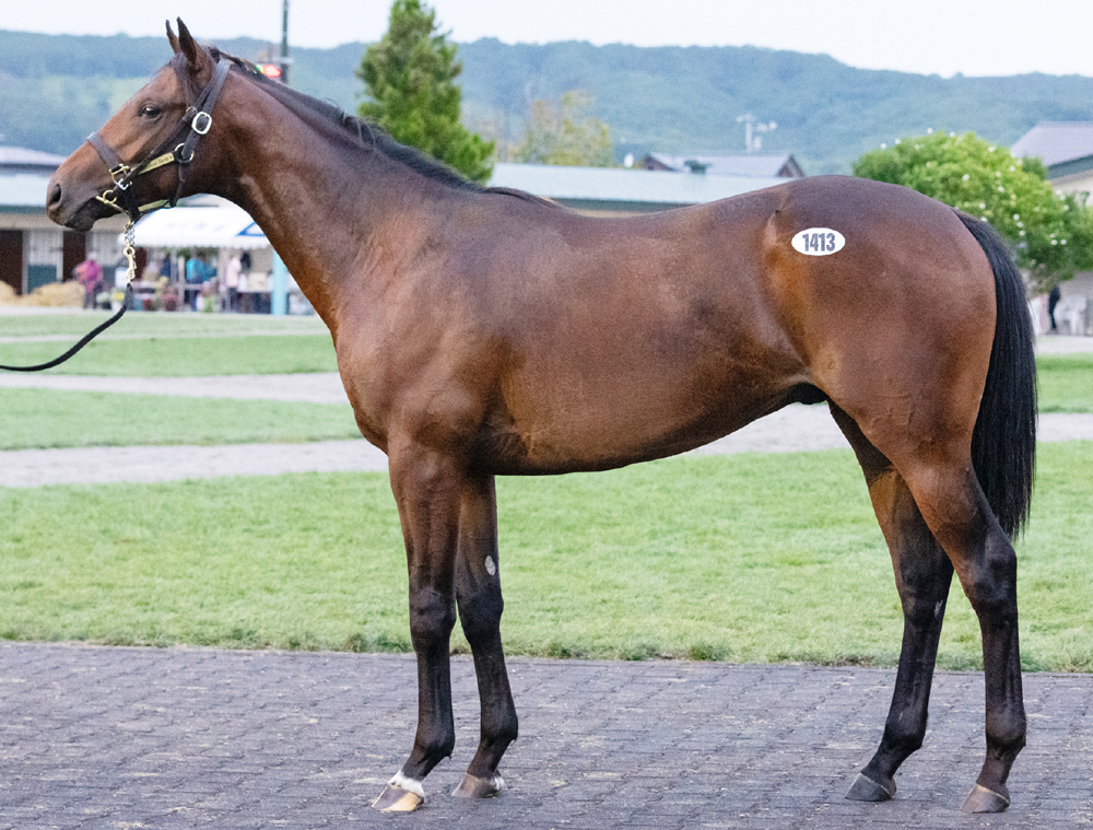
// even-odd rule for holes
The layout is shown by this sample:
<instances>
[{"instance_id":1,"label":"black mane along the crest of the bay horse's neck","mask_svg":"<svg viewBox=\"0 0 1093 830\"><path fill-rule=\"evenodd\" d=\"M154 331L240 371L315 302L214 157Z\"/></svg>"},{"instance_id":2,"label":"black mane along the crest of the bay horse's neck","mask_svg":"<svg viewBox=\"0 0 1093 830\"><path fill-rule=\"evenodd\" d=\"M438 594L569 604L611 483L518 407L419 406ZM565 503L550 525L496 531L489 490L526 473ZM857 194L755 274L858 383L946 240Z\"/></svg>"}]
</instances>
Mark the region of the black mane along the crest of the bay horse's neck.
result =
<instances>
[{"instance_id":1,"label":"black mane along the crest of the bay horse's neck","mask_svg":"<svg viewBox=\"0 0 1093 830\"><path fill-rule=\"evenodd\" d=\"M481 194L503 194L506 196L516 196L517 198L525 199L527 201L554 204L554 202L546 199L540 199L538 196L526 194L522 190L513 190L504 187L483 187L475 182L471 182L469 178L453 169L447 164L444 164L433 156L423 153L421 150L413 147L407 147L406 144L400 144L391 138L390 133L377 125L357 118L356 116L352 116L334 104L313 98L310 95L305 95L297 90L285 86L283 83L270 80L249 60L236 57L235 55L230 55L214 46L210 47L210 52L212 54L213 60L226 58L232 61L243 72L249 75L250 80L260 84L267 92L273 95L273 97L278 98L286 106L290 106L294 112L298 113L301 109L305 109L308 113L318 116L318 120L320 122L332 124L341 127L345 137L356 139L353 143L355 144L355 148L362 152L368 152L371 149L378 150L388 159L406 165L425 178L458 190L471 190L473 192Z\"/></svg>"}]
</instances>

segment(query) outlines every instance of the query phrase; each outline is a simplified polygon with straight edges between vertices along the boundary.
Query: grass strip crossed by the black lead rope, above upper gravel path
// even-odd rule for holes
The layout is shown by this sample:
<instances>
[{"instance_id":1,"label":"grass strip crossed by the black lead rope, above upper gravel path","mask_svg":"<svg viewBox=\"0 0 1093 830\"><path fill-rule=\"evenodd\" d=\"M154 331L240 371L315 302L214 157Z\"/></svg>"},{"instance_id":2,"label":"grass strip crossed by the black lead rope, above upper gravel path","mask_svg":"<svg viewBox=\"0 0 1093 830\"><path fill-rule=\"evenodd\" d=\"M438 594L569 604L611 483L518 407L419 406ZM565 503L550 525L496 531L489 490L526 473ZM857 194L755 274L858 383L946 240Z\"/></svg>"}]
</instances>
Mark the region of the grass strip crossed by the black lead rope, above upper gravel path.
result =
<instances>
[{"instance_id":1,"label":"grass strip crossed by the black lead rope, above upper gravel path","mask_svg":"<svg viewBox=\"0 0 1093 830\"><path fill-rule=\"evenodd\" d=\"M32 365L60 354L67 343L0 344L0 363ZM93 340L50 374L115 377L274 375L337 372L330 335L254 335Z\"/></svg>"}]
</instances>

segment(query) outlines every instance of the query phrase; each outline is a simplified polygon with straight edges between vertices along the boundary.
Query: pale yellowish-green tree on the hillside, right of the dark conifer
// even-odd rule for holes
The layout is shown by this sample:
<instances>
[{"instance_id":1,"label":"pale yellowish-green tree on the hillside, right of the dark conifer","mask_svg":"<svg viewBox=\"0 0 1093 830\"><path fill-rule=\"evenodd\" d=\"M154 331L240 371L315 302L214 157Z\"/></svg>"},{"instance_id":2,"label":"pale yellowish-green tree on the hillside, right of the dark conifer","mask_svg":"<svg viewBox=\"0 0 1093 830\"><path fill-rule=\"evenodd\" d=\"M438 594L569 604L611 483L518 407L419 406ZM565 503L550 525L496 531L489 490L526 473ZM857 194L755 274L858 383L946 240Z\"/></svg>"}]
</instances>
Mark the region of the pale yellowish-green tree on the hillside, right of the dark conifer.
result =
<instances>
[{"instance_id":1,"label":"pale yellowish-green tree on the hillside, right of the dark conifer","mask_svg":"<svg viewBox=\"0 0 1093 830\"><path fill-rule=\"evenodd\" d=\"M513 159L528 164L573 167L613 167L611 129L588 115L592 97L579 91L562 94L559 102L539 98Z\"/></svg>"}]
</instances>

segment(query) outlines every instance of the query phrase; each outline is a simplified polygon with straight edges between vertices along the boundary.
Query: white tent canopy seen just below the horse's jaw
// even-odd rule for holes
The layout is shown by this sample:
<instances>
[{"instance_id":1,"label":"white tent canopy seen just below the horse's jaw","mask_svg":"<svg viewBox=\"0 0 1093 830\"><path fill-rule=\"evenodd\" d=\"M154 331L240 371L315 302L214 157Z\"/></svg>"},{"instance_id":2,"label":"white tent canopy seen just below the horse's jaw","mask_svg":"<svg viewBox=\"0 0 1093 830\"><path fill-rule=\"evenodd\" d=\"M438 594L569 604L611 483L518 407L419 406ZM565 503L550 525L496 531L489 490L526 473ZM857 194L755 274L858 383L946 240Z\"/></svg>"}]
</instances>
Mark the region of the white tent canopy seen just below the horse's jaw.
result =
<instances>
[{"instance_id":1,"label":"white tent canopy seen just below the horse's jaw","mask_svg":"<svg viewBox=\"0 0 1093 830\"><path fill-rule=\"evenodd\" d=\"M231 202L218 207L157 210L137 223L133 241L140 248L254 250L270 246L250 214Z\"/></svg>"}]
</instances>

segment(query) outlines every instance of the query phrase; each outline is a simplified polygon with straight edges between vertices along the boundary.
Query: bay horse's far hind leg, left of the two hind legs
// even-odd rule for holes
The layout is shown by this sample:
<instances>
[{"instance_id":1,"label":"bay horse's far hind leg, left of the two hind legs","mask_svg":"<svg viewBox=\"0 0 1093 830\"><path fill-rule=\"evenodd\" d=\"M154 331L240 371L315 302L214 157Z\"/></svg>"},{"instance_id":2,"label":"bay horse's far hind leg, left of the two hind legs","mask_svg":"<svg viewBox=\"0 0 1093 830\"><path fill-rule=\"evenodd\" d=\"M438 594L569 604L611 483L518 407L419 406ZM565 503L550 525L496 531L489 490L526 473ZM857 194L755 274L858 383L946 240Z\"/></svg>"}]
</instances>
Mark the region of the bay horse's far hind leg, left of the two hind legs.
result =
<instances>
[{"instance_id":1,"label":"bay horse's far hind leg, left of the two hind legs","mask_svg":"<svg viewBox=\"0 0 1093 830\"><path fill-rule=\"evenodd\" d=\"M846 796L880 802L895 794L896 770L922 746L926 736L930 685L953 568L922 519L903 477L845 412L832 405L832 414L866 474L903 605L903 647L884 735L877 753Z\"/></svg>"}]
</instances>

